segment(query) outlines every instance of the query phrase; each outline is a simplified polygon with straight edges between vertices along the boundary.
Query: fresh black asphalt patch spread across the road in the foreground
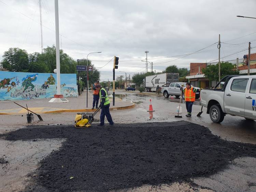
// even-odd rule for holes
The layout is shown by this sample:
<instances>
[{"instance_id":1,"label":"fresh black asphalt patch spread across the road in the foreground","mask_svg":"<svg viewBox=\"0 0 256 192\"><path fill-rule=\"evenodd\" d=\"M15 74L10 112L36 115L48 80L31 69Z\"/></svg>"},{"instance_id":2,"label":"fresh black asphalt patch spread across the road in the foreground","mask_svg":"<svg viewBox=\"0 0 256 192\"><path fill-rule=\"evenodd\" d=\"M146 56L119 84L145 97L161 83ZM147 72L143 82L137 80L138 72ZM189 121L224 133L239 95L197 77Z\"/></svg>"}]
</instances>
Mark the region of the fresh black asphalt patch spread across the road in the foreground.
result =
<instances>
[{"instance_id":1,"label":"fresh black asphalt patch spread across the road in the foreground","mask_svg":"<svg viewBox=\"0 0 256 192\"><path fill-rule=\"evenodd\" d=\"M10 141L66 138L39 165L26 191L110 191L186 181L217 173L255 145L228 142L187 121L31 126L0 135ZM32 174L32 173L31 173ZM34 174L34 173L33 173Z\"/></svg>"}]
</instances>

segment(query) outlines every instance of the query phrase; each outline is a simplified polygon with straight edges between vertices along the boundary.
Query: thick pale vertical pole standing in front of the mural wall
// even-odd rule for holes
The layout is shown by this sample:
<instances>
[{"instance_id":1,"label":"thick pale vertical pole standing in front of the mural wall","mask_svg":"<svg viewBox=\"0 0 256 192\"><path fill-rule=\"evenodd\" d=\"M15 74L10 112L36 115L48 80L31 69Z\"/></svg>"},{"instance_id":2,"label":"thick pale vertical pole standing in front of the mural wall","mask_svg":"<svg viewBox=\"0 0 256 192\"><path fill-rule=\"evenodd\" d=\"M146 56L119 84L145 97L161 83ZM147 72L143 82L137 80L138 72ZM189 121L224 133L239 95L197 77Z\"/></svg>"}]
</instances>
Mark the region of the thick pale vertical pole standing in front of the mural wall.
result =
<instances>
[{"instance_id":1,"label":"thick pale vertical pole standing in front of the mural wall","mask_svg":"<svg viewBox=\"0 0 256 192\"><path fill-rule=\"evenodd\" d=\"M60 95L60 59L59 59L59 10L58 0L55 0L55 34L56 34L56 69L57 69L57 94Z\"/></svg>"}]
</instances>

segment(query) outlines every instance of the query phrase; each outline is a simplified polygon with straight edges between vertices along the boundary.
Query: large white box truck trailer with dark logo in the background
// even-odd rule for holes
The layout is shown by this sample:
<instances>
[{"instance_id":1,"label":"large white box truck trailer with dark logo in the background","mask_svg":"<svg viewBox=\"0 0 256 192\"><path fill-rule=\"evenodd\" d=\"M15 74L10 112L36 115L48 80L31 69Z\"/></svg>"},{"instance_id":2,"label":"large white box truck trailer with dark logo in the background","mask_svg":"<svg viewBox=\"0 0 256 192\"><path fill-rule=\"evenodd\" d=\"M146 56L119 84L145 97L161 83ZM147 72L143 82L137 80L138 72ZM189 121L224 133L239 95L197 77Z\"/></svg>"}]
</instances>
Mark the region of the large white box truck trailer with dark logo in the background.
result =
<instances>
[{"instance_id":1,"label":"large white box truck trailer with dark logo in the background","mask_svg":"<svg viewBox=\"0 0 256 192\"><path fill-rule=\"evenodd\" d=\"M167 83L179 82L179 78L179 73L161 73L150 75L143 79L142 87L145 88L145 91L156 91L157 85L162 87Z\"/></svg>"}]
</instances>

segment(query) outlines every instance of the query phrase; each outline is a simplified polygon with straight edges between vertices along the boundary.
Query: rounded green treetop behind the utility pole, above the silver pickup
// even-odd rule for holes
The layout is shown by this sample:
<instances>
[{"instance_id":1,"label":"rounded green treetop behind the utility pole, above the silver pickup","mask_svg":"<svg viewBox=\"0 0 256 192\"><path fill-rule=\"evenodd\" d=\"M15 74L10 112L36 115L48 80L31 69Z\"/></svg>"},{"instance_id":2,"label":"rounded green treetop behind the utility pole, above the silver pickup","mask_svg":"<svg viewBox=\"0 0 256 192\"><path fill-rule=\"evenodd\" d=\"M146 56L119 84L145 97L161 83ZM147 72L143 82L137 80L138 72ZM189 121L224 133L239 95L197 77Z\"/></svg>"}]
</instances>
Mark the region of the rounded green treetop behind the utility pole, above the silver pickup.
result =
<instances>
[{"instance_id":1,"label":"rounded green treetop behind the utility pole, above the silver pickup","mask_svg":"<svg viewBox=\"0 0 256 192\"><path fill-rule=\"evenodd\" d=\"M202 69L202 72L204 73L205 78L208 78L210 81L216 80L219 81L219 65L207 65L205 69ZM223 78L226 75L238 75L239 71L236 70L236 65L225 62L221 63L221 78Z\"/></svg>"}]
</instances>

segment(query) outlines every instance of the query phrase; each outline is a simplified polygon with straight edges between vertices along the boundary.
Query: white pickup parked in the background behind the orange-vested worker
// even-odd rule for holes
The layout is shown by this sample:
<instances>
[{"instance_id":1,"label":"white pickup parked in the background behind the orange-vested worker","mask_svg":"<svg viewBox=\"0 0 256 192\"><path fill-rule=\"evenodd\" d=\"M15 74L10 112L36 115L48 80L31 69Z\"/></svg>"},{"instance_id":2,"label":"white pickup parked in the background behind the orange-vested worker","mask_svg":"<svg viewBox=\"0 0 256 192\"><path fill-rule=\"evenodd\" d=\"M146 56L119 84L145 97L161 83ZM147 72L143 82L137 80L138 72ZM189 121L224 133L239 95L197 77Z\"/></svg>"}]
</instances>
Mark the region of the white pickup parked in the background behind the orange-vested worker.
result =
<instances>
[{"instance_id":1,"label":"white pickup parked in the background behind the orange-vested worker","mask_svg":"<svg viewBox=\"0 0 256 192\"><path fill-rule=\"evenodd\" d=\"M165 98L169 98L169 95L175 95L176 98L179 98L181 96L181 85L185 85L186 83L184 82L176 82L176 83L167 83L162 86L161 93L163 93L163 96ZM193 86L192 86L193 87ZM198 87L195 87L199 89ZM196 93L196 99L200 97L200 92ZM182 99L185 99L184 93L182 94Z\"/></svg>"}]
</instances>

